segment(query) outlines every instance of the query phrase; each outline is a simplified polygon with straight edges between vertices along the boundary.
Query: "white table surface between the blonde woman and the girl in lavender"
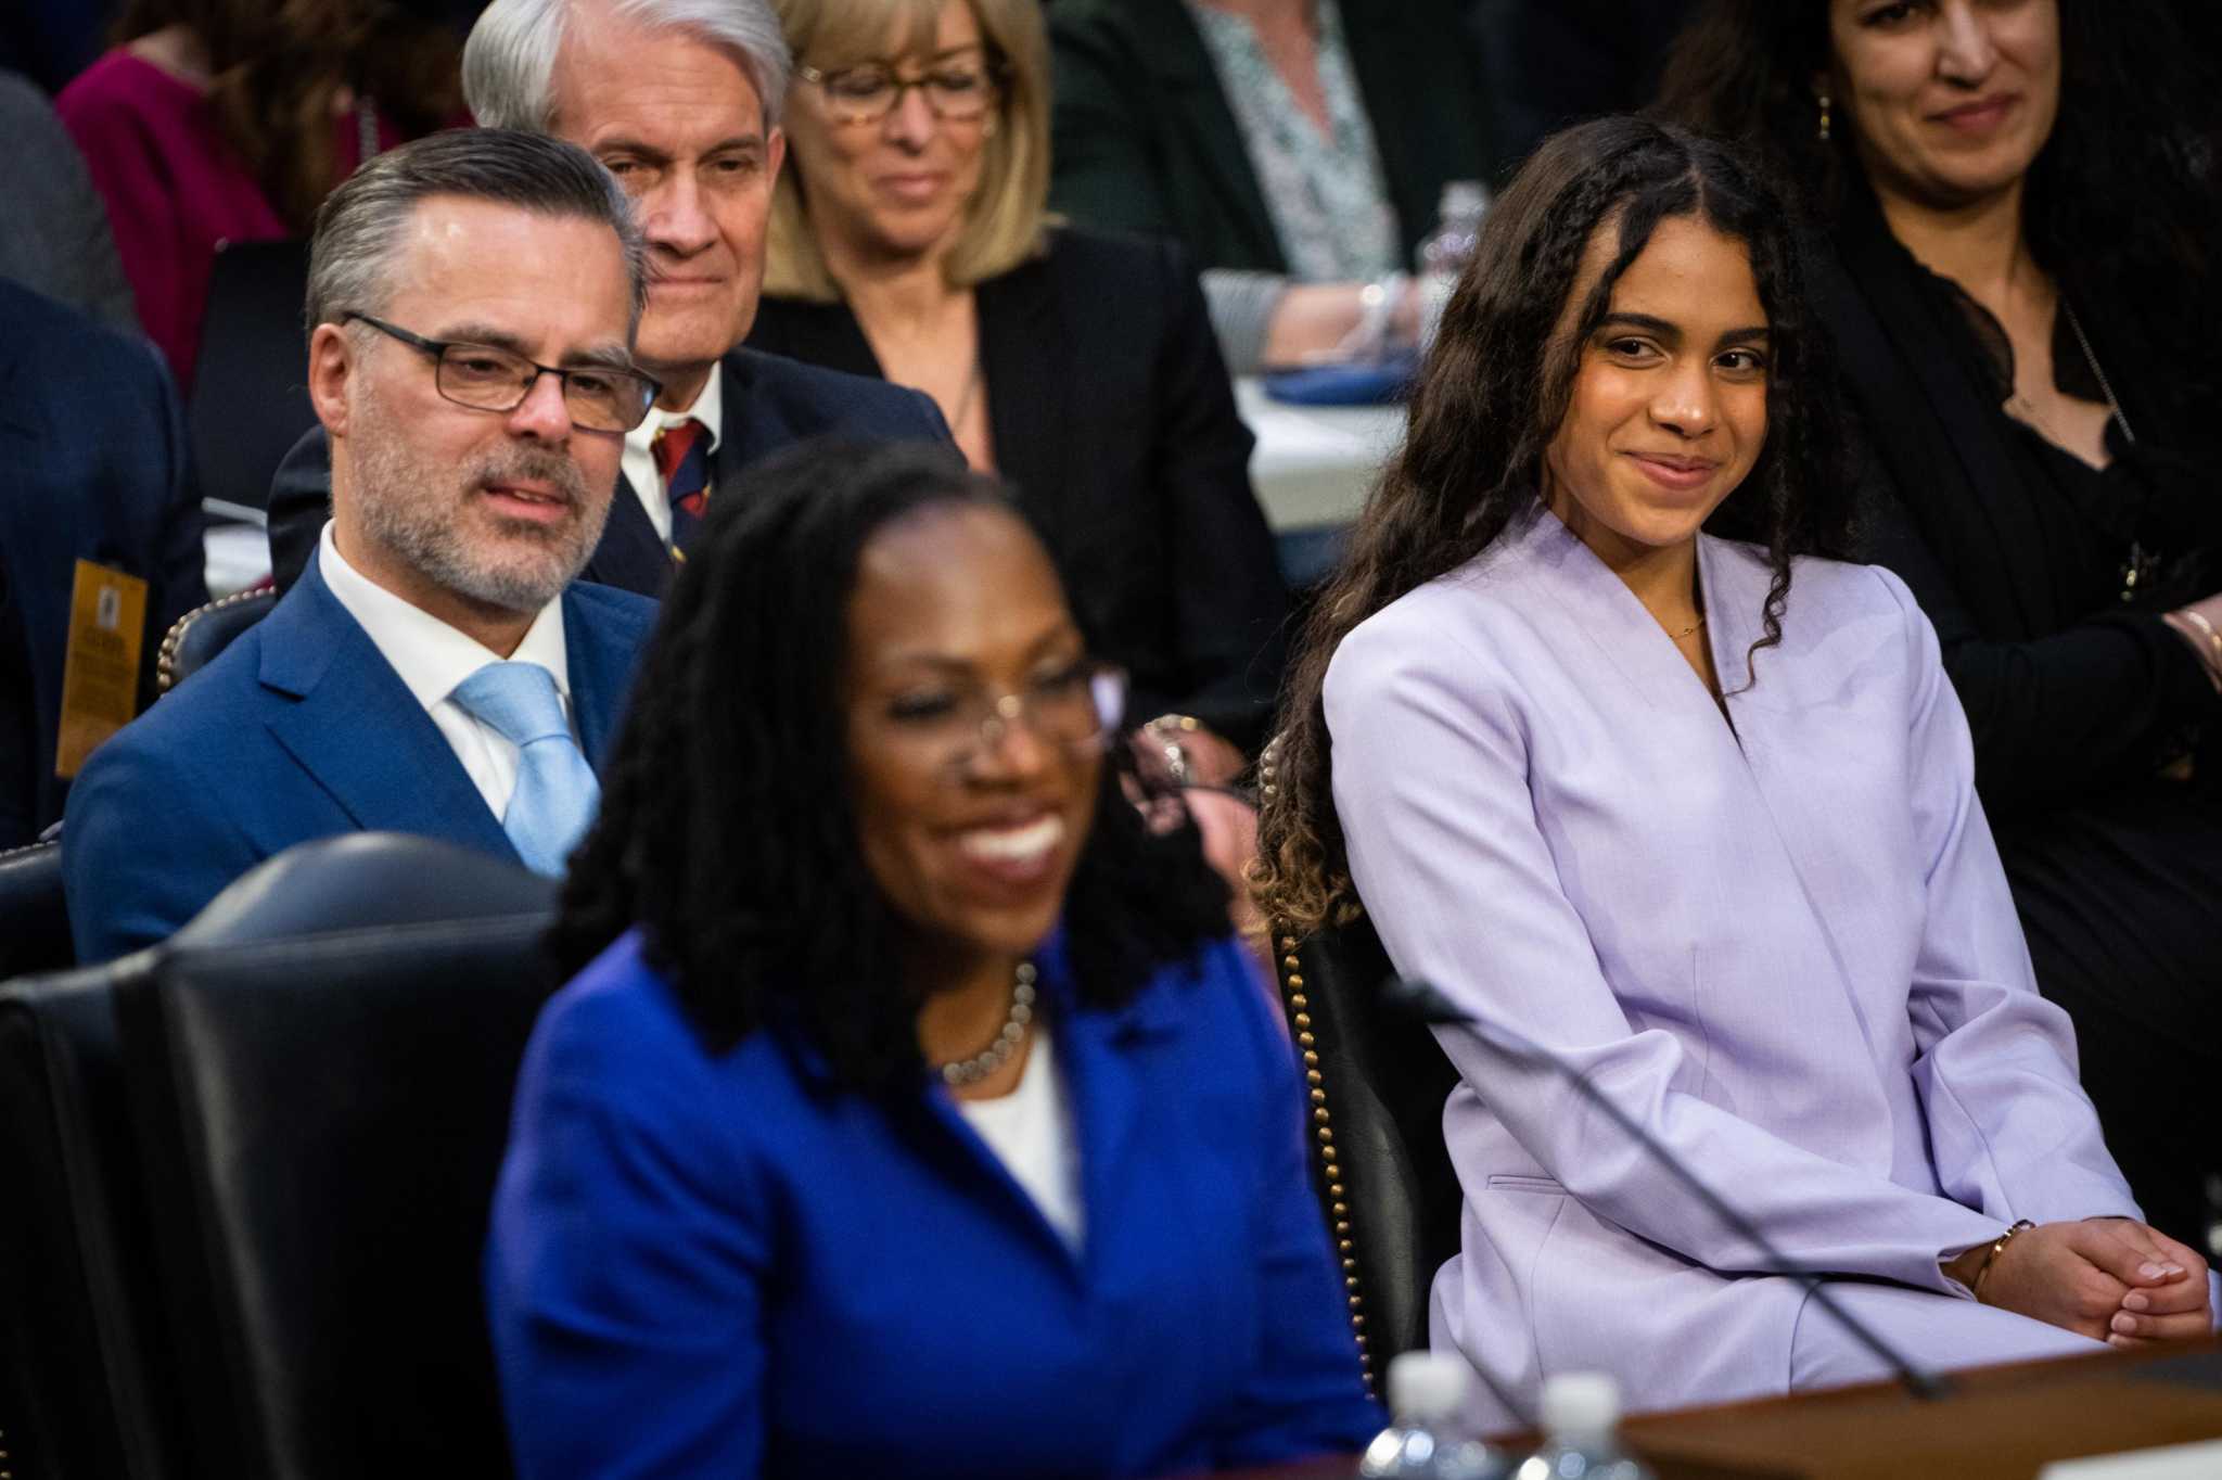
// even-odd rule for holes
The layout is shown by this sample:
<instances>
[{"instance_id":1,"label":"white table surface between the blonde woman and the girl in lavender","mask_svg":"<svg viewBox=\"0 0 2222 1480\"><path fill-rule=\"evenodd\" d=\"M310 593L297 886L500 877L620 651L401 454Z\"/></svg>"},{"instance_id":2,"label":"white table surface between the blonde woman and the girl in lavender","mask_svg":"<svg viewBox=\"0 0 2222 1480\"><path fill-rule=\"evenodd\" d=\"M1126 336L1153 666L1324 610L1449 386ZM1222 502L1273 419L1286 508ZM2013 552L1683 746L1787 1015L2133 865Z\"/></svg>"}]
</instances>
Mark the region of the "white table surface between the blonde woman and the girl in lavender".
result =
<instances>
[{"instance_id":1,"label":"white table surface between the blonde woman and the girl in lavender","mask_svg":"<svg viewBox=\"0 0 2222 1480\"><path fill-rule=\"evenodd\" d=\"M1273 533L1349 524L1404 436L1404 407L1291 407L1255 376L1235 380L1235 411L1258 436L1251 484Z\"/></svg>"}]
</instances>

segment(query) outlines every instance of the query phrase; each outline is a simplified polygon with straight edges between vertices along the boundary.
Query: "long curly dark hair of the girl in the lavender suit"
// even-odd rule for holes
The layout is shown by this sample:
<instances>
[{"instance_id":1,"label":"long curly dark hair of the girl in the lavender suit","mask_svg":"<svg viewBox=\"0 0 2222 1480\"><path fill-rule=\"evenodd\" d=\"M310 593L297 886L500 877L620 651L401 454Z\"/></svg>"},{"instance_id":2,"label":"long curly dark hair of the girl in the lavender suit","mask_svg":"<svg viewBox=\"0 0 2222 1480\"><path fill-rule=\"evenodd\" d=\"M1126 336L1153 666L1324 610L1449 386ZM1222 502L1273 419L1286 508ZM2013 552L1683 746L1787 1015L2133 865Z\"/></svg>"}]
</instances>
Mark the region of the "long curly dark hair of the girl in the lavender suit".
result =
<instances>
[{"instance_id":1,"label":"long curly dark hair of the girl in the lavender suit","mask_svg":"<svg viewBox=\"0 0 2222 1480\"><path fill-rule=\"evenodd\" d=\"M1849 551L1835 376L1806 313L1802 249L1782 198L1733 149L1671 124L1602 118L1544 140L1482 222L1420 371L1404 444L1304 627L1251 871L1275 931L1304 933L1355 911L1329 791L1327 664L1353 627L1467 564L1538 504L1582 344L1611 309L1613 284L1669 218L1698 218L1740 240L1766 309L1766 444L1706 522L1711 533L1762 544L1773 567L1746 682L1758 651L1782 640L1791 558ZM1620 251L1560 333L1582 256L1609 222L1618 222Z\"/></svg>"}]
</instances>

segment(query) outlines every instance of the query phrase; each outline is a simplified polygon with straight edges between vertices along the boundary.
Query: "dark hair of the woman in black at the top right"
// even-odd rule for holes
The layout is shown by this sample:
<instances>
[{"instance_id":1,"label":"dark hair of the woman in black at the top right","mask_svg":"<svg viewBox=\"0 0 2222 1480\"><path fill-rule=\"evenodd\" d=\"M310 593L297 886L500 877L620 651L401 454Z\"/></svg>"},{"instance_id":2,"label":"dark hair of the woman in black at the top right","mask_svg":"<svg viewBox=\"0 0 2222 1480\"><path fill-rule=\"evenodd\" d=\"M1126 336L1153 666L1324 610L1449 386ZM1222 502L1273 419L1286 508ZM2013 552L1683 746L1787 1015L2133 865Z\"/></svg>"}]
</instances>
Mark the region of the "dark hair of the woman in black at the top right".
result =
<instances>
[{"instance_id":1,"label":"dark hair of the woman in black at the top right","mask_svg":"<svg viewBox=\"0 0 2222 1480\"><path fill-rule=\"evenodd\" d=\"M2126 313L2211 402L2202 367L2222 324L2213 58L2162 0L2058 0L2060 113L2029 169L2029 253L2069 302ZM1853 127L1818 129L1813 78L1833 62L1826 0L1711 0L1682 31L1651 111L1762 156L1822 222L1864 182Z\"/></svg>"}]
</instances>

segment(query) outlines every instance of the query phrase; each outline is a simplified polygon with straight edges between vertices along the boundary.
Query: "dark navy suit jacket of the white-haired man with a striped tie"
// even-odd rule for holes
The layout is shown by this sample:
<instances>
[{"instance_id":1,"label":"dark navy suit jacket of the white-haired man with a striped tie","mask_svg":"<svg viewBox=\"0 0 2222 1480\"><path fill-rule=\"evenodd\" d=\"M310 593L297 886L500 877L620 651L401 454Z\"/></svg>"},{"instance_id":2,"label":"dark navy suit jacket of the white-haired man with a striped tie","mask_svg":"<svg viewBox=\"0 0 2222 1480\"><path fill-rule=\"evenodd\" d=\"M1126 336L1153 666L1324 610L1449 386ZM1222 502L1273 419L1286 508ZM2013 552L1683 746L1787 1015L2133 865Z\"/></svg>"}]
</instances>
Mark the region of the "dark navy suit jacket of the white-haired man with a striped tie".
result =
<instances>
[{"instance_id":1,"label":"dark navy suit jacket of the white-haired man with a striped tie","mask_svg":"<svg viewBox=\"0 0 2222 1480\"><path fill-rule=\"evenodd\" d=\"M813 436L947 442L949 427L918 391L835 376L813 364L735 349L724 358L724 424L709 460L713 489L729 489L753 462ZM271 571L291 589L331 516L331 447L311 427L271 480ZM618 478L609 527L580 580L640 596L671 584L671 551L655 536L633 484Z\"/></svg>"}]
</instances>

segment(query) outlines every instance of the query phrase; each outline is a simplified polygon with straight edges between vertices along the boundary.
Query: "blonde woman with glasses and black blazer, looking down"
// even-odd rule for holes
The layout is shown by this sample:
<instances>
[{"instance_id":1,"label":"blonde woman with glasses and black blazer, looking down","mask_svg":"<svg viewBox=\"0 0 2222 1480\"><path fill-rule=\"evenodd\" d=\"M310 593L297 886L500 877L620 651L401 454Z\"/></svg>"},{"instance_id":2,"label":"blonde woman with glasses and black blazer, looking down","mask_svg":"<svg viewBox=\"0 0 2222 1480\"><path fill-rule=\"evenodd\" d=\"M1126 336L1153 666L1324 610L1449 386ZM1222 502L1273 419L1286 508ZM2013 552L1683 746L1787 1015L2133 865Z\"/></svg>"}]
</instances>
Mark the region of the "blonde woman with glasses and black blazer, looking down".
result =
<instances>
[{"instance_id":1,"label":"blonde woman with glasses and black blazer, looking down","mask_svg":"<svg viewBox=\"0 0 2222 1480\"><path fill-rule=\"evenodd\" d=\"M1047 216L1040 0L775 0L787 169L749 344L929 393L1042 531L1153 756L1227 782L1287 593L1193 269Z\"/></svg>"}]
</instances>

